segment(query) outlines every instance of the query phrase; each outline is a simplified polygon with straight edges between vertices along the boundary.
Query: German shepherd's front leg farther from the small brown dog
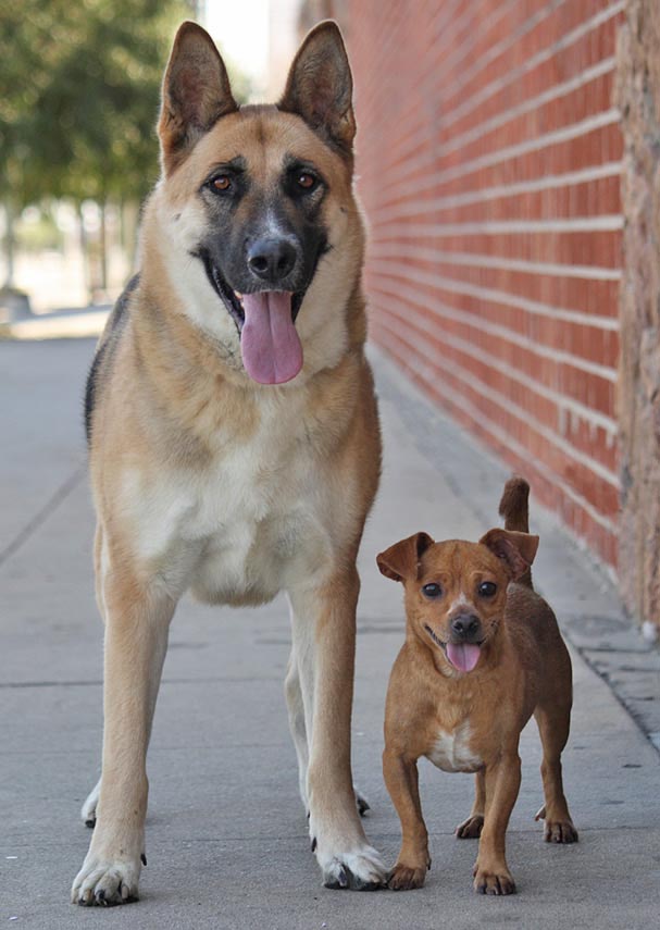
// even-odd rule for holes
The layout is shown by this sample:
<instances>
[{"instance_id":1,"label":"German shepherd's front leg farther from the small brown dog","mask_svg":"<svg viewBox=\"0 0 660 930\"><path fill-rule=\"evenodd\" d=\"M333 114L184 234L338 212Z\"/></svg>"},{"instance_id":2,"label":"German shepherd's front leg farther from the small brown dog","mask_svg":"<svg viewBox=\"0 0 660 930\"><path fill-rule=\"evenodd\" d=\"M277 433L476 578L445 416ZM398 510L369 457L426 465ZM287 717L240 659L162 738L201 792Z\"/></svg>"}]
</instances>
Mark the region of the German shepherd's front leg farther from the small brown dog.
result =
<instances>
[{"instance_id":1,"label":"German shepherd's front leg farther from the small brown dog","mask_svg":"<svg viewBox=\"0 0 660 930\"><path fill-rule=\"evenodd\" d=\"M129 566L122 569L103 580L103 770L96 828L71 890L74 904L137 900L146 863L147 745L175 602L157 585L140 584Z\"/></svg>"}]
</instances>

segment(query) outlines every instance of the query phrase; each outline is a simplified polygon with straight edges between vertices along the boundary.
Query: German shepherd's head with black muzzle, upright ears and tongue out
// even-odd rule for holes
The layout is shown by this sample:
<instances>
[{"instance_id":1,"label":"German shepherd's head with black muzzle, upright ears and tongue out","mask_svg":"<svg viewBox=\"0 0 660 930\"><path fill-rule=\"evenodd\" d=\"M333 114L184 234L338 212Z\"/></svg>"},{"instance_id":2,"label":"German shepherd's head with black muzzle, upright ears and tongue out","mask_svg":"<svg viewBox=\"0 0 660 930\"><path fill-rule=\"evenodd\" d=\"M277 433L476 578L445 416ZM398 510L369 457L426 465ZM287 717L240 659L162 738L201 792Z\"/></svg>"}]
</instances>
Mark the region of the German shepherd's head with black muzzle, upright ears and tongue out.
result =
<instances>
[{"instance_id":1,"label":"German shepherd's head with black muzzle, upright ears and tongue out","mask_svg":"<svg viewBox=\"0 0 660 930\"><path fill-rule=\"evenodd\" d=\"M162 177L147 209L145 272L169 281L227 365L282 384L338 363L359 294L352 79L321 23L276 106L239 108L210 36L178 30L162 91ZM147 261L148 260L148 261ZM353 299L361 314L361 299Z\"/></svg>"}]
</instances>

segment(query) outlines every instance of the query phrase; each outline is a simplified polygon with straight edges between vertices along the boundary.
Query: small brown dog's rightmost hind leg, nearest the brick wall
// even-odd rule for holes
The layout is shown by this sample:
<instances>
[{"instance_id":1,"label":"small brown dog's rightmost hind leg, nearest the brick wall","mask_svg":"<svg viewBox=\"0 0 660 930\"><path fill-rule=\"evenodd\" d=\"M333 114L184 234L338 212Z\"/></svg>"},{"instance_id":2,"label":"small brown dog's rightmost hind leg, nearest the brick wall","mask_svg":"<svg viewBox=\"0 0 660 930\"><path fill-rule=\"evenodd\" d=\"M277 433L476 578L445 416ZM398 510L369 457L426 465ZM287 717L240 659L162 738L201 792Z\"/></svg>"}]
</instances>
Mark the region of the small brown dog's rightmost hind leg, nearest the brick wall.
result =
<instances>
[{"instance_id":1,"label":"small brown dog's rightmost hind leg, nearest the brick wall","mask_svg":"<svg viewBox=\"0 0 660 930\"><path fill-rule=\"evenodd\" d=\"M535 819L545 820L546 843L576 843L577 830L569 813L561 776L561 754L569 739L571 704L558 700L549 707L537 707L534 717L544 749L540 774L546 802Z\"/></svg>"}]
</instances>

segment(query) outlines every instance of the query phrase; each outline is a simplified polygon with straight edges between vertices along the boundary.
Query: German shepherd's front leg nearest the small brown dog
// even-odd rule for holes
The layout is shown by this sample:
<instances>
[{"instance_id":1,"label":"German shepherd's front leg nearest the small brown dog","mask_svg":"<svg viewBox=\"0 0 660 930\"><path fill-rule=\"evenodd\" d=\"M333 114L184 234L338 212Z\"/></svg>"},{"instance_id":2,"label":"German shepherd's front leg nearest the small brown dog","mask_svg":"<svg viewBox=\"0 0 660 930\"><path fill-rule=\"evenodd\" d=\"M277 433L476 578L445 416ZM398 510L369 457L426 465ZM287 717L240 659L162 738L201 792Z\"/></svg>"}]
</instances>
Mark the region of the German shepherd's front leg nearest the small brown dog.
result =
<instances>
[{"instance_id":1,"label":"German shepherd's front leg nearest the small brown dog","mask_svg":"<svg viewBox=\"0 0 660 930\"><path fill-rule=\"evenodd\" d=\"M360 580L354 568L319 587L289 591L294 650L309 739L307 799L312 851L326 888L372 891L386 869L360 822L350 721Z\"/></svg>"}]
</instances>

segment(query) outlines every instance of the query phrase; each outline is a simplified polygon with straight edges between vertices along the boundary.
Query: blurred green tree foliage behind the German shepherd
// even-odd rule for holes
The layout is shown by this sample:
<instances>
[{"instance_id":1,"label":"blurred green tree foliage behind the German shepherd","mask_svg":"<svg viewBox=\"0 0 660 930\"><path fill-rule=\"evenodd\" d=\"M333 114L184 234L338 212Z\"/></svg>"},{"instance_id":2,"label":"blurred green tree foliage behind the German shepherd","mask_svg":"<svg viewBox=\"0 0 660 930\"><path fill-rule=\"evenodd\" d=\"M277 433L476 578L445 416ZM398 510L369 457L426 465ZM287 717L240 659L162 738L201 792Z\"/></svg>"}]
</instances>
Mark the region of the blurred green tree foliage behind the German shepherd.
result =
<instances>
[{"instance_id":1,"label":"blurred green tree foliage behind the German shepherd","mask_svg":"<svg viewBox=\"0 0 660 930\"><path fill-rule=\"evenodd\" d=\"M184 0L2 0L0 197L140 199ZM8 53L8 50L10 53Z\"/></svg>"}]
</instances>

